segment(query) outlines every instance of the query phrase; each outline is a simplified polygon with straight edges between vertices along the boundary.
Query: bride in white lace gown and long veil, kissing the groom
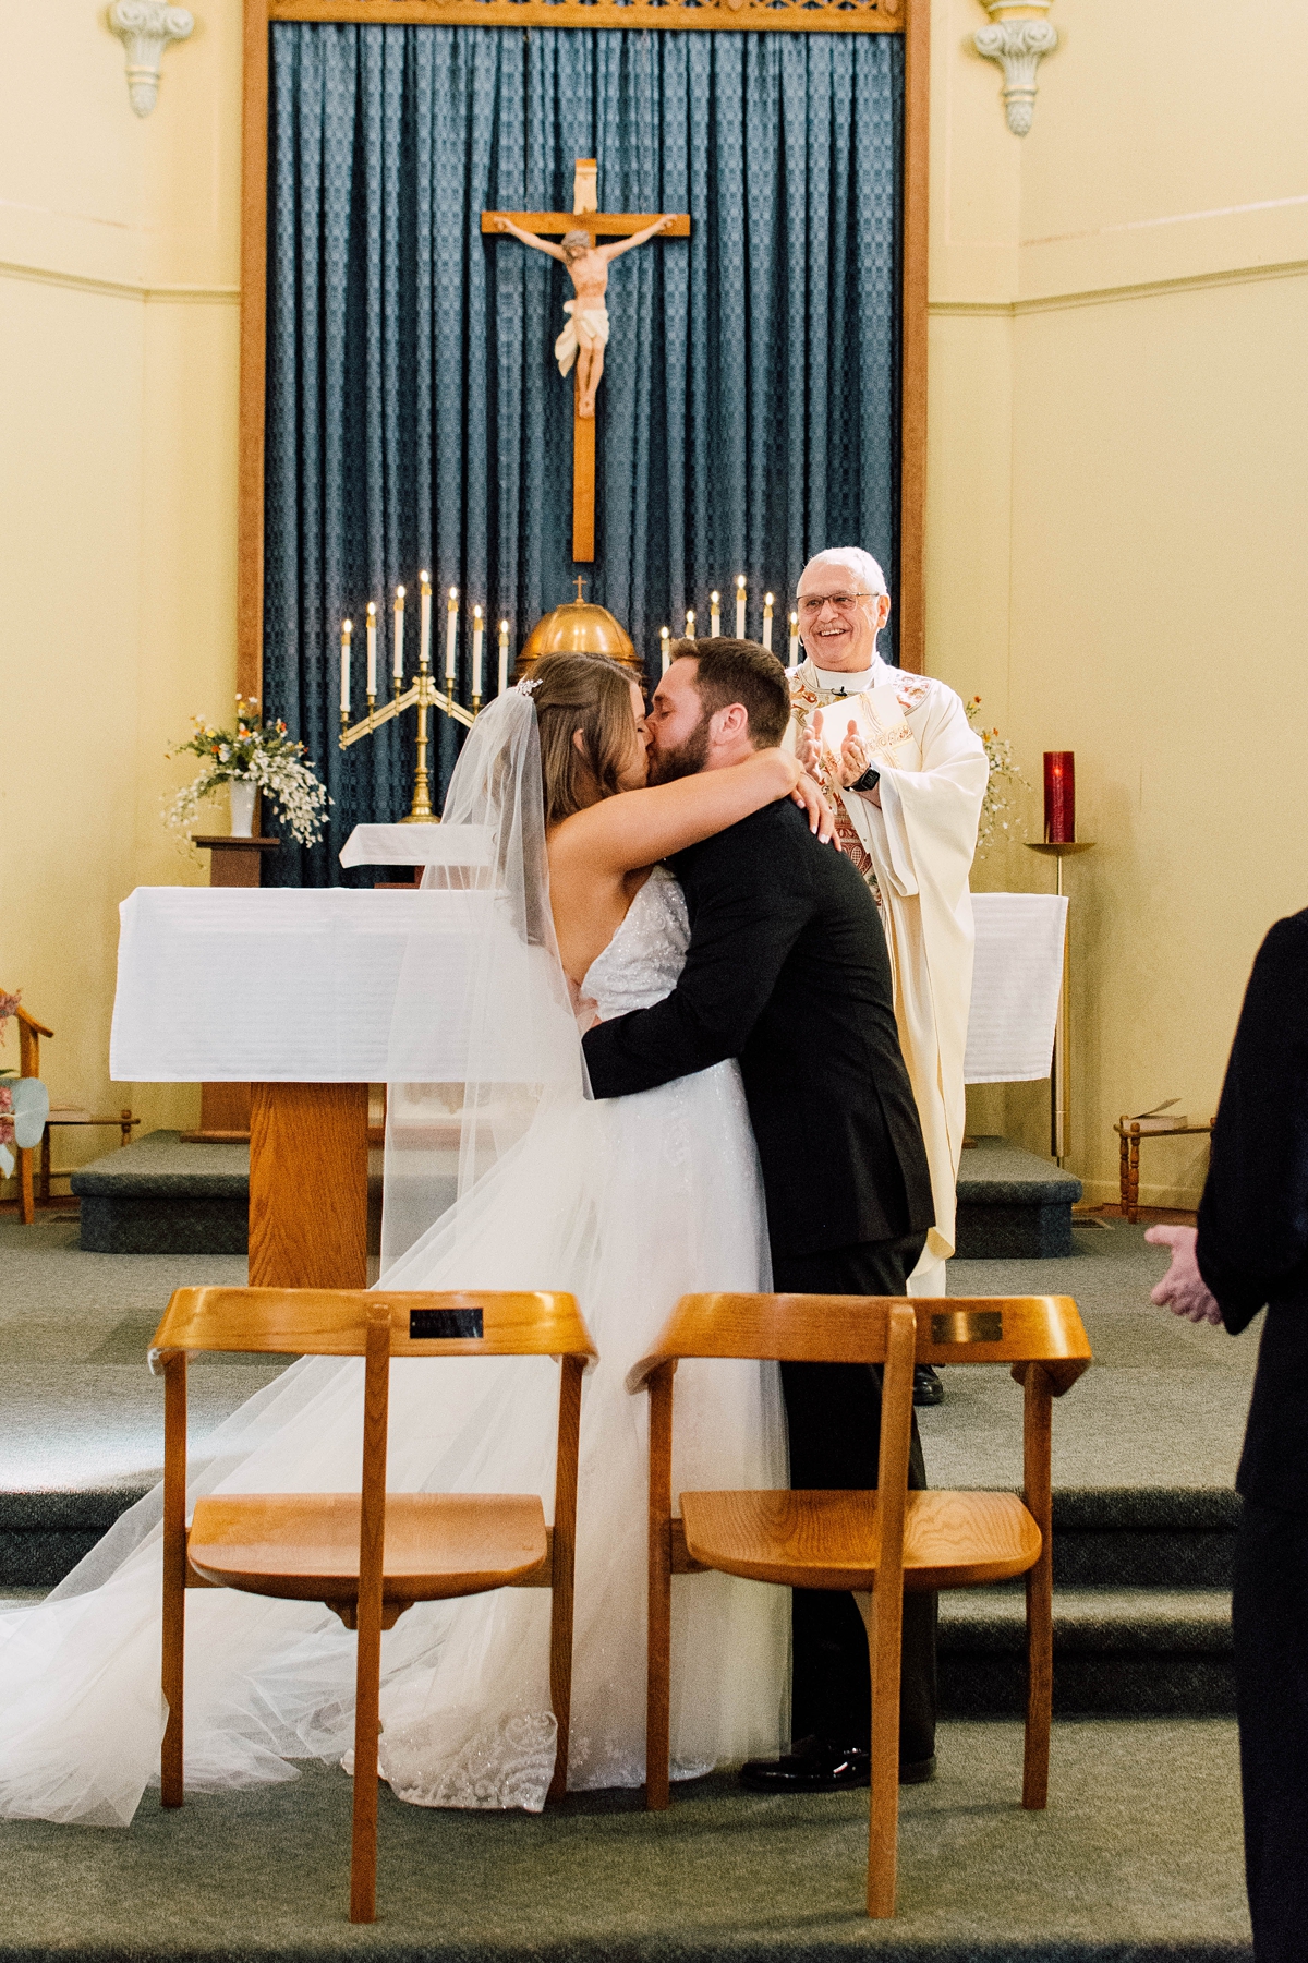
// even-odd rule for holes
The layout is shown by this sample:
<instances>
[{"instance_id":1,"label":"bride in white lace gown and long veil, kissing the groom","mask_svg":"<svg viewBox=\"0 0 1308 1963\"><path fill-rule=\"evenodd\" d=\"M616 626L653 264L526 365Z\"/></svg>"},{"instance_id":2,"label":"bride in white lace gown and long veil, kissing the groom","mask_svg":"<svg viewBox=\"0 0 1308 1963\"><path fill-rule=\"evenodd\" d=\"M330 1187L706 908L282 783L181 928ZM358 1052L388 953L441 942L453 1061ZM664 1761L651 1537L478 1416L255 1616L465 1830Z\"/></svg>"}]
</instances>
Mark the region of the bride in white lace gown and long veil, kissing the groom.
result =
<instances>
[{"instance_id":1,"label":"bride in white lace gown and long veil, kissing the groom","mask_svg":"<svg viewBox=\"0 0 1308 1963\"><path fill-rule=\"evenodd\" d=\"M463 1082L406 1084L433 1019L429 944L410 944L392 1029L384 1286L571 1290L600 1362L580 1421L573 1788L643 1780L645 1400L624 1376L688 1290L767 1288L763 1197L735 1064L639 1097L588 1097L575 1011L661 999L686 907L659 864L779 797L830 836L796 762L645 787L639 689L616 663L549 656L477 720L445 803L471 866L439 872L463 921ZM480 844L477 844L480 842ZM478 911L480 907L480 911ZM512 1056L508 1054L512 1052ZM457 1152L455 1152L457 1146ZM457 1188L451 1162L457 1158ZM202 1492L359 1484L361 1364L302 1358L190 1457ZM396 1490L541 1492L547 1358L392 1364ZM775 1366L682 1364L677 1486L782 1486ZM37 1608L0 1616L0 1816L126 1826L155 1782L161 1488ZM788 1598L724 1574L675 1590L679 1777L773 1755L786 1735ZM186 1598L186 1784L222 1790L335 1761L353 1731L355 1641L316 1604ZM553 1773L549 1594L412 1608L382 1639L380 1769L418 1806L537 1812Z\"/></svg>"}]
</instances>

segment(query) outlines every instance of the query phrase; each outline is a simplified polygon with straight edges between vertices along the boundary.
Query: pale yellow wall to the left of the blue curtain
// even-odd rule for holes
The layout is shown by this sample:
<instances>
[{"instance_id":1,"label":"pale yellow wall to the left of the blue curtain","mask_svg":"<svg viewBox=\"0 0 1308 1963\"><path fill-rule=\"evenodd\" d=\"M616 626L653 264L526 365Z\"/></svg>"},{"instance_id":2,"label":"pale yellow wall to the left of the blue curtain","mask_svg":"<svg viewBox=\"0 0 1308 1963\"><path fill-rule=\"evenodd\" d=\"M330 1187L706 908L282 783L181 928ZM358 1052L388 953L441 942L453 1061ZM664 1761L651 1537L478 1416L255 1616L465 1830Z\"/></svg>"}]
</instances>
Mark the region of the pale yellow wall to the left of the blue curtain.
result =
<instances>
[{"instance_id":1,"label":"pale yellow wall to the left of the blue curtain","mask_svg":"<svg viewBox=\"0 0 1308 1963\"><path fill-rule=\"evenodd\" d=\"M55 1029L57 1103L145 1129L198 1093L110 1084L118 903L208 877L159 821L165 750L235 687L241 31L198 14L139 120L102 14L0 4L0 985Z\"/></svg>"}]
</instances>

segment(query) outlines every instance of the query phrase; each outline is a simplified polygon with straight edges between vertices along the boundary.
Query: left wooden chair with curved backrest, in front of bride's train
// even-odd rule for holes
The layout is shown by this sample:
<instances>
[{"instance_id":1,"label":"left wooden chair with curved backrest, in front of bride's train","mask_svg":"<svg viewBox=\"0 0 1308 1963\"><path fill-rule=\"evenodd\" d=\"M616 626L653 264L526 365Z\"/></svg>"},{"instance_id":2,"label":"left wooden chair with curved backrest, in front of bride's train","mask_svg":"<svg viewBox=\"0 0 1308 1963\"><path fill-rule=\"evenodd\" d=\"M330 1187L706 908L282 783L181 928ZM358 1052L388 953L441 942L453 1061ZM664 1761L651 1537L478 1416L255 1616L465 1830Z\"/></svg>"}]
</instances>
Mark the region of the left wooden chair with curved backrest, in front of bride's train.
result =
<instances>
[{"instance_id":1,"label":"left wooden chair with curved backrest, in front of bride's train","mask_svg":"<svg viewBox=\"0 0 1308 1963\"><path fill-rule=\"evenodd\" d=\"M214 1494L186 1529L186 1353L365 1356L361 1492ZM326 1602L359 1631L349 1920L377 1916L377 1751L382 1629L414 1602L549 1588L549 1686L567 1788L580 1378L596 1351L573 1296L318 1288L178 1288L155 1331L165 1374L163 1804L182 1804L186 1588ZM537 1494L388 1494L390 1358L557 1356L555 1519Z\"/></svg>"}]
</instances>

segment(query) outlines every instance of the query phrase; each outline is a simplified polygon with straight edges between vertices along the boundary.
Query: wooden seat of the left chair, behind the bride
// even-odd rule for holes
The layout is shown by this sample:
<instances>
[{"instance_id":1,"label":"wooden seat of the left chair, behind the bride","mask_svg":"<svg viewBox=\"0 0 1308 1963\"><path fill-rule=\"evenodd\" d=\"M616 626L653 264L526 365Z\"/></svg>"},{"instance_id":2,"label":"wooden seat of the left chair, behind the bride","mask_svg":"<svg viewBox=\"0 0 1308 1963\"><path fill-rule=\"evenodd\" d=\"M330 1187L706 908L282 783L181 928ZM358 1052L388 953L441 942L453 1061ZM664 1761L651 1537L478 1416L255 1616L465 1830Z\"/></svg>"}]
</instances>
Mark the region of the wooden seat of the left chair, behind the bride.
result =
<instances>
[{"instance_id":1,"label":"wooden seat of the left chair, behind the bride","mask_svg":"<svg viewBox=\"0 0 1308 1963\"><path fill-rule=\"evenodd\" d=\"M439 1602L506 1588L549 1553L537 1494L386 1496L384 1598ZM359 1592L357 1492L251 1492L196 1500L190 1566L220 1588L351 1602Z\"/></svg>"}]
</instances>

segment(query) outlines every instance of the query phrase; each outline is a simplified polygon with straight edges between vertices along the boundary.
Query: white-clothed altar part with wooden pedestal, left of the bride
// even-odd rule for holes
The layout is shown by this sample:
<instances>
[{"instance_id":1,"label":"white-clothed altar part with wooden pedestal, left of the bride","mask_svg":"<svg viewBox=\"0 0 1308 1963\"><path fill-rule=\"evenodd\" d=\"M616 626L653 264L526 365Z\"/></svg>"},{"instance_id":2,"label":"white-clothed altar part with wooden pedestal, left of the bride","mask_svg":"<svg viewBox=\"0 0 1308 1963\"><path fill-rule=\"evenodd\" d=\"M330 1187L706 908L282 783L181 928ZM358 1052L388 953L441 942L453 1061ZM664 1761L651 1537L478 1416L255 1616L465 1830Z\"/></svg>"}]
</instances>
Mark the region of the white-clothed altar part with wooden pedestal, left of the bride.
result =
<instances>
[{"instance_id":1,"label":"white-clothed altar part with wooden pedestal, left of the bride","mask_svg":"<svg viewBox=\"0 0 1308 1963\"><path fill-rule=\"evenodd\" d=\"M494 915L494 895L137 887L124 901L110 1076L251 1082L253 1288L367 1288L369 1086L463 1080L478 907ZM524 999L506 1015L504 1080L528 1080L512 1054L526 1023ZM433 1178L455 1180L457 1156L433 1158Z\"/></svg>"}]
</instances>

